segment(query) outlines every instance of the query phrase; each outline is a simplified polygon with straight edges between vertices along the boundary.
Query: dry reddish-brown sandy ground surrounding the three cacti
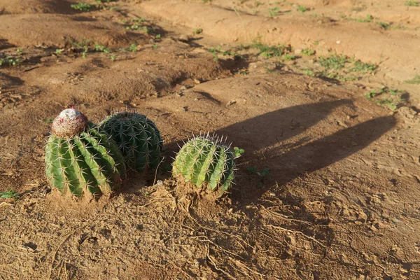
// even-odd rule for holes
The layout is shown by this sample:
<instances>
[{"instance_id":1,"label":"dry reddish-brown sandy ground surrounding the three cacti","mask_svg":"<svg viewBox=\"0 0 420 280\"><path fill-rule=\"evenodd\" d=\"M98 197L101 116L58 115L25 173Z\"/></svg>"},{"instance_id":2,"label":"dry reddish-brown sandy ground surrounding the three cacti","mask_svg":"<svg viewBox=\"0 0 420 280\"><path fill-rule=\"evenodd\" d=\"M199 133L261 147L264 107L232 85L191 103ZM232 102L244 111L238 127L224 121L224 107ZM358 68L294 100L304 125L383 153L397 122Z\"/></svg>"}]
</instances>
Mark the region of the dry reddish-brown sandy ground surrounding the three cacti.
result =
<instances>
[{"instance_id":1,"label":"dry reddish-brown sandy ground surrounding the three cacti","mask_svg":"<svg viewBox=\"0 0 420 280\"><path fill-rule=\"evenodd\" d=\"M420 279L420 6L104 2L0 0L0 279ZM64 200L69 106L146 114L158 171ZM171 179L200 132L245 150L220 200Z\"/></svg>"}]
</instances>

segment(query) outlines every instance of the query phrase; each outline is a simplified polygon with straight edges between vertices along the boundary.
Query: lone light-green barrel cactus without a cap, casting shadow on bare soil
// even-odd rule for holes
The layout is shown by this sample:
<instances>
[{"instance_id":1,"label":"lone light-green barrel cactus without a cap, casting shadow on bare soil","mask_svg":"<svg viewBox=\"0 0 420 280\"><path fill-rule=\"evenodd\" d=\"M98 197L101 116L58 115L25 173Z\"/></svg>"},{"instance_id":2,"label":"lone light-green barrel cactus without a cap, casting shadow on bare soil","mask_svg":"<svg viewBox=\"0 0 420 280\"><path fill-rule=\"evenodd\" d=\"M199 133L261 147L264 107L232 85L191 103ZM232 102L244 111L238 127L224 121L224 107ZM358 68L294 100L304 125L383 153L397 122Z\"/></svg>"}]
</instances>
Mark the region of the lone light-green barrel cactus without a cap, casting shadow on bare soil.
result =
<instances>
[{"instance_id":1,"label":"lone light-green barrel cactus without a cap, casting shadow on bare soil","mask_svg":"<svg viewBox=\"0 0 420 280\"><path fill-rule=\"evenodd\" d=\"M209 190L220 193L230 190L235 179L235 159L239 158L241 150L234 151L220 143L216 137L200 136L188 141L176 155L172 168L175 177L195 184L198 188L207 186Z\"/></svg>"}]
</instances>

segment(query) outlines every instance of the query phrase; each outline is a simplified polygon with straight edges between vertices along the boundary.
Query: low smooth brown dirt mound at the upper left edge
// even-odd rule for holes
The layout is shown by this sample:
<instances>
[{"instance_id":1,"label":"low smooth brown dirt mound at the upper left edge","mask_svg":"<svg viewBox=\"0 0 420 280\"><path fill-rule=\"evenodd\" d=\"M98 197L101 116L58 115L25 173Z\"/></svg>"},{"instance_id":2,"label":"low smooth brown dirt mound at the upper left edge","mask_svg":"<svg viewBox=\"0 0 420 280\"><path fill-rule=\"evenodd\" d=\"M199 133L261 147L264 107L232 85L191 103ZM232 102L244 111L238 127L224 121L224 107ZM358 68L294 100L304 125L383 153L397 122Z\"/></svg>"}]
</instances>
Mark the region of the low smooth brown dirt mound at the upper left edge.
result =
<instances>
[{"instance_id":1,"label":"low smooth brown dirt mound at the upper left edge","mask_svg":"<svg viewBox=\"0 0 420 280\"><path fill-rule=\"evenodd\" d=\"M1 15L0 38L19 47L54 45L58 48L70 41L89 40L115 46L148 41L146 36L127 32L123 26L108 20L55 14Z\"/></svg>"}]
</instances>

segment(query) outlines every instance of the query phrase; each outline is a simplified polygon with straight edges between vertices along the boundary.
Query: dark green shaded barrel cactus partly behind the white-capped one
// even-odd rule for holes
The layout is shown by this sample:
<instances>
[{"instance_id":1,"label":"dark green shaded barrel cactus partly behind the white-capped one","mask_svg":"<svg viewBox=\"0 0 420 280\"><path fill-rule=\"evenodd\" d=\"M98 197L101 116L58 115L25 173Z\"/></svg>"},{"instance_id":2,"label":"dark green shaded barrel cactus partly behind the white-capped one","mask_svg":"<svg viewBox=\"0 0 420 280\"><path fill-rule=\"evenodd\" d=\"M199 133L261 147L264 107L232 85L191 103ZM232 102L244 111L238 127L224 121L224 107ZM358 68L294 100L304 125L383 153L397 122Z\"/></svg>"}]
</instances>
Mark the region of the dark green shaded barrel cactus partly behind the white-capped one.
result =
<instances>
[{"instance_id":1,"label":"dark green shaded barrel cactus partly behind the white-capped one","mask_svg":"<svg viewBox=\"0 0 420 280\"><path fill-rule=\"evenodd\" d=\"M146 116L116 113L99 126L116 141L128 168L142 172L158 167L163 142L155 123Z\"/></svg>"}]
</instances>

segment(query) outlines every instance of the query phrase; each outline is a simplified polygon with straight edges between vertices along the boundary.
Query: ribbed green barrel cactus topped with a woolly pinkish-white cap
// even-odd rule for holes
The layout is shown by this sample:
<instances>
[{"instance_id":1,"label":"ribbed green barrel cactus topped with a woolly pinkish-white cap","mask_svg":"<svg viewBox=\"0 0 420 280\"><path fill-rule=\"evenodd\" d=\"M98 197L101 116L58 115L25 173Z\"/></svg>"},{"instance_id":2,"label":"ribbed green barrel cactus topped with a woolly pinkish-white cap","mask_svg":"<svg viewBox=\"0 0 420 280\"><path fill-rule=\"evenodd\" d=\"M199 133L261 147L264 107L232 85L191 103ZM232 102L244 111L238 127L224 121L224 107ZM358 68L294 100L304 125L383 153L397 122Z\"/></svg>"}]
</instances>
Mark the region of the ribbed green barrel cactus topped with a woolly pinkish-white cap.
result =
<instances>
[{"instance_id":1,"label":"ribbed green barrel cactus topped with a woolly pinkish-white cap","mask_svg":"<svg viewBox=\"0 0 420 280\"><path fill-rule=\"evenodd\" d=\"M45 163L51 186L75 196L110 194L125 174L117 144L73 108L53 121Z\"/></svg>"}]
</instances>

